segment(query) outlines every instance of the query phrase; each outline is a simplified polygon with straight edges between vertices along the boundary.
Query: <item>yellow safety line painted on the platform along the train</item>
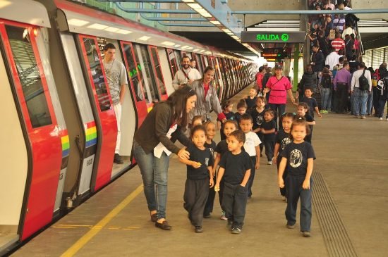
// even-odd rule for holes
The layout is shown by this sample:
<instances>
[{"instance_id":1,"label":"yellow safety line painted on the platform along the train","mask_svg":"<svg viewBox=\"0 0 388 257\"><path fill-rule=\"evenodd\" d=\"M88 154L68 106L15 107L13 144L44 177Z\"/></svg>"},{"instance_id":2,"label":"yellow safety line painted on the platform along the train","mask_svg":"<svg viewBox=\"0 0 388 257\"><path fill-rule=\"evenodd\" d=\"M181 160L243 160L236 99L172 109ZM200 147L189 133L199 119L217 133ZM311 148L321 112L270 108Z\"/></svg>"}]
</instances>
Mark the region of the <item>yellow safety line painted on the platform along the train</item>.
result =
<instances>
[{"instance_id":1,"label":"yellow safety line painted on the platform along the train","mask_svg":"<svg viewBox=\"0 0 388 257\"><path fill-rule=\"evenodd\" d=\"M68 257L68 256L73 256L75 253L77 253L78 251L80 251L80 249L85 246L85 244L87 244L87 242L90 241L90 239L92 239L93 237L95 237L95 235L100 231L102 230L102 227L104 227L105 225L108 224L109 221L111 221L111 219L113 219L117 214L119 214L123 208L125 208L128 203L131 203L131 201L133 199L135 199L136 196L138 196L138 194L140 194L140 192L143 191L143 184L140 184L140 186L135 189L135 191L133 191L130 195L128 195L126 197L126 199L124 199L123 201L121 201L121 203L119 203L118 206L116 206L113 210L111 210L110 213L108 213L104 218L102 218L102 220L99 220L99 222L97 223L97 225L91 227L90 231L87 232L86 234L83 235L83 237L81 237L80 239L78 239L77 242L75 242L75 244L73 244L73 246L71 246L69 249L67 249L67 251L65 251L61 257Z\"/></svg>"}]
</instances>

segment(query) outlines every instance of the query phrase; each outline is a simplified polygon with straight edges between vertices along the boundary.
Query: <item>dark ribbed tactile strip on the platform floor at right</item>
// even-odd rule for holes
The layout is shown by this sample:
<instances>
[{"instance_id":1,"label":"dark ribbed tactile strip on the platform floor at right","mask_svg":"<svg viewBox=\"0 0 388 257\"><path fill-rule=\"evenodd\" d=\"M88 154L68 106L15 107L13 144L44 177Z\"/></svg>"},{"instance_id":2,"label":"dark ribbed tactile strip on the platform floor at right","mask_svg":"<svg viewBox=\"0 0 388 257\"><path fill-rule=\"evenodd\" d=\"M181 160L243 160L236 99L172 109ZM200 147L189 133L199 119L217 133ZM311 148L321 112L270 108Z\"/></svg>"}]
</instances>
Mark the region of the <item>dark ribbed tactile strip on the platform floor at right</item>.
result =
<instances>
[{"instance_id":1,"label":"dark ribbed tactile strip on the platform floor at right","mask_svg":"<svg viewBox=\"0 0 388 257\"><path fill-rule=\"evenodd\" d=\"M356 257L351 239L320 172L313 173L313 206L330 257Z\"/></svg>"}]
</instances>

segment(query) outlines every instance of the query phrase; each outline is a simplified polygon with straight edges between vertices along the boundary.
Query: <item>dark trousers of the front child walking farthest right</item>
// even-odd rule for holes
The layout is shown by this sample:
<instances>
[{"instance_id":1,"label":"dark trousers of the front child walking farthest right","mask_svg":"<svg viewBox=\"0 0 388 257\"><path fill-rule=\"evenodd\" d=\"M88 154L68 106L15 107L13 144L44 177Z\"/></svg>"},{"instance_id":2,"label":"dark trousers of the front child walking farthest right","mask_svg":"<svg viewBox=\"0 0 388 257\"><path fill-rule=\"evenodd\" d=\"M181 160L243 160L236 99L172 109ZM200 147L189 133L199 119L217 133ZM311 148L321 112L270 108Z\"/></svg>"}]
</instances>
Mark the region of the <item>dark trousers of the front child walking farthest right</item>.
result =
<instances>
[{"instance_id":1,"label":"dark trousers of the front child walking farthest right","mask_svg":"<svg viewBox=\"0 0 388 257\"><path fill-rule=\"evenodd\" d=\"M301 231L311 230L311 189L313 187L313 179L310 178L310 189L303 189L302 184L305 180L304 176L288 175L286 177L287 188L287 208L286 219L287 225L295 225L296 209L298 208L298 200L301 198Z\"/></svg>"}]
</instances>

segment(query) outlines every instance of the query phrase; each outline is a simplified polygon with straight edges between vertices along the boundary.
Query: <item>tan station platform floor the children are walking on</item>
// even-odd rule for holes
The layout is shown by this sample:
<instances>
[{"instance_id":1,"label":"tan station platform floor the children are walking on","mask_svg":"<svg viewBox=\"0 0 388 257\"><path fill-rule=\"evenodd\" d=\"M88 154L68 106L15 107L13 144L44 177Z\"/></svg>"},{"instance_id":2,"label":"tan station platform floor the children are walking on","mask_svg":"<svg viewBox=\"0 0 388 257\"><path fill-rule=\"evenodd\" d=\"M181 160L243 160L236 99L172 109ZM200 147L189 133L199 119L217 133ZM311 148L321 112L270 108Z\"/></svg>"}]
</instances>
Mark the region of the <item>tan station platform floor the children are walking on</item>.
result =
<instances>
[{"instance_id":1,"label":"tan station platform floor the children are walking on","mask_svg":"<svg viewBox=\"0 0 388 257\"><path fill-rule=\"evenodd\" d=\"M310 238L302 237L298 218L295 229L286 229L276 165L267 165L265 156L243 232L231 234L219 219L216 196L204 232L195 233L183 209L186 165L171 158L166 210L171 231L150 221L136 166L11 256L387 256L388 121L329 113L316 122Z\"/></svg>"}]
</instances>

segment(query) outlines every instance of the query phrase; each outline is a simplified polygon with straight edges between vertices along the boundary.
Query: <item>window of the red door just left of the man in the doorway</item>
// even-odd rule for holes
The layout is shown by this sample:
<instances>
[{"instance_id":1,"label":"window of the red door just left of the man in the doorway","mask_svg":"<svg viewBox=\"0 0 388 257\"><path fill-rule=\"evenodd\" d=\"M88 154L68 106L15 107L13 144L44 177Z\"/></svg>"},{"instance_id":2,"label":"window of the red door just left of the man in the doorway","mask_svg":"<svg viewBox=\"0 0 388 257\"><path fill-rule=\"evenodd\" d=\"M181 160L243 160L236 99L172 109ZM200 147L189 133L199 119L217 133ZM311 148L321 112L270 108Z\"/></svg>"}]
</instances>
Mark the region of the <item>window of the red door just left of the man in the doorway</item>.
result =
<instances>
[{"instance_id":1,"label":"window of the red door just left of the man in the doorway","mask_svg":"<svg viewBox=\"0 0 388 257\"><path fill-rule=\"evenodd\" d=\"M83 38L83 45L87 56L87 64L90 68L93 83L97 93L97 100L101 111L107 111L111 108L107 84L105 84L104 73L102 73L102 66L97 52L97 44L95 39Z\"/></svg>"}]
</instances>

